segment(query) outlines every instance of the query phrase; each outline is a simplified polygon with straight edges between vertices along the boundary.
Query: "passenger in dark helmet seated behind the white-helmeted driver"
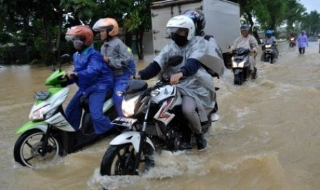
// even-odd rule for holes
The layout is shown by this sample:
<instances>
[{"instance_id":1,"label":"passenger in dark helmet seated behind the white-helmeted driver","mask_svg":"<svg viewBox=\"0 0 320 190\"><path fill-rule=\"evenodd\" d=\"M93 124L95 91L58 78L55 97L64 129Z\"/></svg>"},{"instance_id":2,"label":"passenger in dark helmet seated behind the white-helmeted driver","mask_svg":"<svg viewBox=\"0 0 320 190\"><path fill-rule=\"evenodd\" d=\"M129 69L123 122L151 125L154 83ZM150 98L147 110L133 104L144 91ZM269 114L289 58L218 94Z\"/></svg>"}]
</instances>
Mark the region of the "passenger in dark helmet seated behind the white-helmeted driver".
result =
<instances>
[{"instance_id":1,"label":"passenger in dark helmet seated behind the white-helmeted driver","mask_svg":"<svg viewBox=\"0 0 320 190\"><path fill-rule=\"evenodd\" d=\"M193 23L195 23L195 36L202 36L207 41L210 41L211 43L210 47L213 47L215 49L212 52L215 53L216 57L220 57L220 59L222 59L223 61L222 50L219 47L219 45L217 45L217 42L213 38L213 35L207 35L204 33L204 27L206 25L204 14L200 10L187 10L186 12L184 12L184 15L188 16L190 19L193 20ZM217 76L217 74L213 74L213 76ZM217 114L218 107L217 107L216 94L215 94L214 101L215 101L215 108L211 113L211 121L216 121L216 120L219 120L220 118L220 116Z\"/></svg>"}]
</instances>

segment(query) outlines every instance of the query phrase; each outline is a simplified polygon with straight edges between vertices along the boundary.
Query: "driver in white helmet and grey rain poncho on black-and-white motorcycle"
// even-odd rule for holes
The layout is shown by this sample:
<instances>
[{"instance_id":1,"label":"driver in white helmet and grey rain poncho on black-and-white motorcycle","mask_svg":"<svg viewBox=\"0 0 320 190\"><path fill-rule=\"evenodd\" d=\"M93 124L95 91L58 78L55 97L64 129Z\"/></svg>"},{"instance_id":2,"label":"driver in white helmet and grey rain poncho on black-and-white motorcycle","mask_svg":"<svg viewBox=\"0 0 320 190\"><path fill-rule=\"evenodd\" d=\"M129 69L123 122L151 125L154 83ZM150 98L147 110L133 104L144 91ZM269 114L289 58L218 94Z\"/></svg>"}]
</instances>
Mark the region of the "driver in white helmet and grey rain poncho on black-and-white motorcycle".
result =
<instances>
[{"instance_id":1,"label":"driver in white helmet and grey rain poncho on black-and-white motorcycle","mask_svg":"<svg viewBox=\"0 0 320 190\"><path fill-rule=\"evenodd\" d=\"M162 49L153 59L153 63L138 72L136 78L147 80L156 76L166 67L164 64L170 56L184 57L180 65L171 67L170 72L173 75L170 83L177 85L182 93L182 112L188 118L191 130L195 133L198 150L203 151L206 149L206 139L202 133L201 121L208 120L208 114L214 108L214 103L208 102L207 96L215 90L213 83L206 83L212 77L201 67L199 61L204 55L207 43L202 37L194 36L195 25L192 19L185 15L171 18L167 23L167 32L173 41ZM185 81L178 83L182 76L186 77ZM209 112L206 113L204 110Z\"/></svg>"}]
</instances>

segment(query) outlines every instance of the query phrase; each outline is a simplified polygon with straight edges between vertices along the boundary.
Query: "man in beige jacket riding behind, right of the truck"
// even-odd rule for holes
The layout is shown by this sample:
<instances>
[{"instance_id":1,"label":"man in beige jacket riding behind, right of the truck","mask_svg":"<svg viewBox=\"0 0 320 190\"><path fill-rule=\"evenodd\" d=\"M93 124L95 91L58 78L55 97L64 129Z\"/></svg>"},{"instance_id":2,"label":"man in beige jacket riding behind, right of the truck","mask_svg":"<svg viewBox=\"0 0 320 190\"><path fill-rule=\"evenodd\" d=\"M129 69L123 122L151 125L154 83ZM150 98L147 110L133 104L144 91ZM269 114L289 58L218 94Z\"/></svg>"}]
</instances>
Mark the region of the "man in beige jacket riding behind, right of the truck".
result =
<instances>
[{"instance_id":1,"label":"man in beige jacket riding behind, right of the truck","mask_svg":"<svg viewBox=\"0 0 320 190\"><path fill-rule=\"evenodd\" d=\"M249 62L250 71L254 72L255 69L255 56L257 56L258 43L254 36L249 34L250 26L241 25L240 32L241 35L235 39L233 45L231 46L231 51L237 49L238 47L248 48L250 50Z\"/></svg>"}]
</instances>

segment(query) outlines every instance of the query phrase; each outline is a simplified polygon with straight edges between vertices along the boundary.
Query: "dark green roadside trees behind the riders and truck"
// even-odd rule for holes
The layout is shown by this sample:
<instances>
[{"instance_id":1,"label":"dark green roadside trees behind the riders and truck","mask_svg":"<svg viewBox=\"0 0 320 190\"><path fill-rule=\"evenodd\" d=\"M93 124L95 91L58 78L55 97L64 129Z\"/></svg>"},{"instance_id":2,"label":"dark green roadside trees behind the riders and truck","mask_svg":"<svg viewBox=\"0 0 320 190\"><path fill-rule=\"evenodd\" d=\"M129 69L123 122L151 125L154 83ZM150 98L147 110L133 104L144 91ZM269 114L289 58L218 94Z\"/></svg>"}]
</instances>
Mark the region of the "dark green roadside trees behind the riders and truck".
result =
<instances>
[{"instance_id":1,"label":"dark green roadside trees behind the riders and truck","mask_svg":"<svg viewBox=\"0 0 320 190\"><path fill-rule=\"evenodd\" d=\"M122 26L125 43L137 47L143 59L143 34L151 30L150 5L153 0L0 0L0 64L58 61L61 54L72 54L65 32L73 25L89 25L100 18L114 17ZM320 14L306 12L299 0L237 0L241 14L259 39L258 30L276 31L286 25L287 32L301 29L320 32ZM209 18L207 18L209 20Z\"/></svg>"}]
</instances>

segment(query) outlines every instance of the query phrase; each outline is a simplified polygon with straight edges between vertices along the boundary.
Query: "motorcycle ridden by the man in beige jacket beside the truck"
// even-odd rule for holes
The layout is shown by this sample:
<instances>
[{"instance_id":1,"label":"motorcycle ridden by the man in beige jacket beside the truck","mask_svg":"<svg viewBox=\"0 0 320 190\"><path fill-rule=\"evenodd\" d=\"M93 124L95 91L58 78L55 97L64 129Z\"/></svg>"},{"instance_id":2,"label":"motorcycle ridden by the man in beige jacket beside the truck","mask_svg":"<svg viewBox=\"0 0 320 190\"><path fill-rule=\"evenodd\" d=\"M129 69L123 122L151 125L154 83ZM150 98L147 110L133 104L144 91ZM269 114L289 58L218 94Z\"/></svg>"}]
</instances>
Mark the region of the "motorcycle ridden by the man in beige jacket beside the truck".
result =
<instances>
[{"instance_id":1,"label":"motorcycle ridden by the man in beige jacket beside the truck","mask_svg":"<svg viewBox=\"0 0 320 190\"><path fill-rule=\"evenodd\" d=\"M227 45L230 48L230 45ZM257 67L253 72L250 71L249 54L250 50L244 47L238 47L231 52L231 63L234 76L234 84L242 85L248 78L257 78Z\"/></svg>"}]
</instances>

